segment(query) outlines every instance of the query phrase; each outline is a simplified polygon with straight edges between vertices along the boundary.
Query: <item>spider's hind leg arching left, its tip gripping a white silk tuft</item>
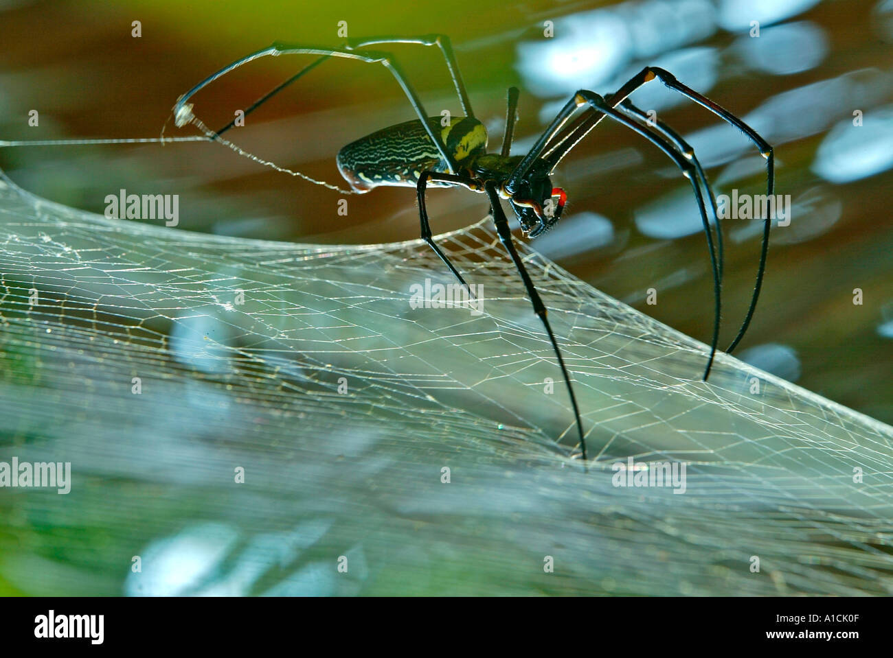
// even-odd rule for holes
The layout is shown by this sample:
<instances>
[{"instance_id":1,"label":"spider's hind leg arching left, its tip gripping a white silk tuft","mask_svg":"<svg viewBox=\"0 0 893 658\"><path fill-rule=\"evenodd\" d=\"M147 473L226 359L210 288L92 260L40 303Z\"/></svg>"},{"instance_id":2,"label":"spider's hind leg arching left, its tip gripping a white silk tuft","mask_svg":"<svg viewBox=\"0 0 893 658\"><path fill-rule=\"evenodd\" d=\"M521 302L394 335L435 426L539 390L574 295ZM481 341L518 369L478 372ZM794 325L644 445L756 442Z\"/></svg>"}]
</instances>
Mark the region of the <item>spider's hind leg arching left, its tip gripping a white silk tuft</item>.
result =
<instances>
[{"instance_id":1,"label":"spider's hind leg arching left, its tip gripping a white silk tuft","mask_svg":"<svg viewBox=\"0 0 893 658\"><path fill-rule=\"evenodd\" d=\"M321 58L344 57L346 59L356 60L359 62L381 64L385 67L385 69L390 71L391 75L393 75L396 79L397 84L400 86L400 88L403 89L406 98L409 99L410 104L412 104L413 106L413 110L421 121L421 126L425 129L425 132L428 133L430 140L435 144L435 146L437 146L440 157L447 163L449 172L455 173L458 170L455 158L447 150L447 146L443 143L443 140L439 135L439 131L435 131L432 127L430 127L428 122L428 113L425 111L424 106L421 104L419 96L415 93L415 89L406 80L403 71L400 70L400 67L397 65L393 55L389 55L387 53L356 53L352 50L348 50L347 48L326 48L317 46L288 45L279 42L274 43L268 48L263 48L263 50L248 54L245 57L242 57L241 59L238 59L235 62L232 62L231 64L223 67L221 70L212 73L210 76L204 78L204 80L199 82L196 86L193 86L191 89L189 89L186 94L181 95L179 99L177 99L177 103L175 103L173 106L173 115L176 124L178 126L185 126L187 123L195 119L192 113L192 106L191 104L187 103L189 98L191 98L205 86L210 85L217 78L221 78L230 71L238 69L240 66L243 66L248 62L254 62L261 57L266 57L268 55L278 56L282 54L314 54L319 55ZM321 63L321 60L315 63ZM311 66L313 66L313 64ZM302 73L303 72L306 72L306 70L302 71Z\"/></svg>"}]
</instances>

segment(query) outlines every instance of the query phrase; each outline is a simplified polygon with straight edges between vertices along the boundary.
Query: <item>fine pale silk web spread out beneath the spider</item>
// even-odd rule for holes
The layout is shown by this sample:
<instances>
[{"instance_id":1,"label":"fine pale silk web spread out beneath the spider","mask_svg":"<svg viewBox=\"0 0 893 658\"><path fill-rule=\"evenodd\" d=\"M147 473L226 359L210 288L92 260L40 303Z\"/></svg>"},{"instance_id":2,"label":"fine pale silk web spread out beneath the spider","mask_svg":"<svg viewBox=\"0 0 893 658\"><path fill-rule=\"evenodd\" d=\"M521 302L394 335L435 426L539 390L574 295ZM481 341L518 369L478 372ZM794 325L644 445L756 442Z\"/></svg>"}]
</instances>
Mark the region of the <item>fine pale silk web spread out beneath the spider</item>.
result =
<instances>
[{"instance_id":1,"label":"fine pale silk web spread out beneath the spider","mask_svg":"<svg viewBox=\"0 0 893 658\"><path fill-rule=\"evenodd\" d=\"M73 480L0 490L0 588L893 593L893 428L726 355L702 382L704 344L519 244L584 470L488 220L438 238L478 316L411 308L413 284L453 283L421 241L192 234L8 180L0 220L0 460ZM629 456L687 463L685 493L614 487Z\"/></svg>"}]
</instances>

